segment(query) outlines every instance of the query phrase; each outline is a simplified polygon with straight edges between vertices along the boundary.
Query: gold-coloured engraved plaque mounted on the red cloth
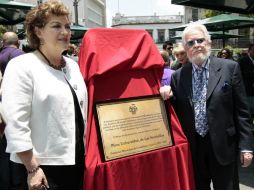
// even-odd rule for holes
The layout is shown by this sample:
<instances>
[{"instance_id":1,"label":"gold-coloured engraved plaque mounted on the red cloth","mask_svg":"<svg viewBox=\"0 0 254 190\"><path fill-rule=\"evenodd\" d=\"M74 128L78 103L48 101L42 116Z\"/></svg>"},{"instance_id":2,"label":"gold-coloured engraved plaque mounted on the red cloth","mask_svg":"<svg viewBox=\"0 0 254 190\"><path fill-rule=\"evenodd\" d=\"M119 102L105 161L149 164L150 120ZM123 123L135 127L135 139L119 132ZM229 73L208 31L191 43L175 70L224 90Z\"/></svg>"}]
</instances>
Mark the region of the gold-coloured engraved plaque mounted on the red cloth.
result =
<instances>
[{"instance_id":1,"label":"gold-coloured engraved plaque mounted on the red cloth","mask_svg":"<svg viewBox=\"0 0 254 190\"><path fill-rule=\"evenodd\" d=\"M160 96L96 103L106 161L173 145Z\"/></svg>"}]
</instances>

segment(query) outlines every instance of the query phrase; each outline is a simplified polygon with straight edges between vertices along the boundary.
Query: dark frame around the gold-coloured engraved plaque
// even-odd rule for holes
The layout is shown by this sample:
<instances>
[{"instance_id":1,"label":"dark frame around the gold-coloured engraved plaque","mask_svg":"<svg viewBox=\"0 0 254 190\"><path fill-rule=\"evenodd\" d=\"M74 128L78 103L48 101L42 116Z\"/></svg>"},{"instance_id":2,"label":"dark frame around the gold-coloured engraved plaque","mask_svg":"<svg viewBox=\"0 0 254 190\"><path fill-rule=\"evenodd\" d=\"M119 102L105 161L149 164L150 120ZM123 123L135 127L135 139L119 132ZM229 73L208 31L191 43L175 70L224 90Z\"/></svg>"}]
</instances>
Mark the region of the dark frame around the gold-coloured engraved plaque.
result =
<instances>
[{"instance_id":1,"label":"dark frame around the gold-coloured engraved plaque","mask_svg":"<svg viewBox=\"0 0 254 190\"><path fill-rule=\"evenodd\" d=\"M146 153L146 152L151 152L151 151L155 151L155 150L164 149L164 148L167 148L167 147L162 147L162 148L158 148L158 149L154 149L154 150L148 150L148 151L145 151L145 152L134 153L134 154L131 154L131 155L128 155L128 156L123 156L123 157L118 157L118 158L113 158L113 159L110 159L110 160L106 160L105 159L105 153L104 153L104 144L103 144L103 139L102 139L102 134L101 134L101 129L100 129L99 116L98 116L97 108L96 108L97 105L99 105L99 104L101 104L101 105L110 104L110 103L113 104L115 102L116 103L117 102L128 102L128 101L132 101L132 100L156 99L156 98L159 98L163 102L163 109L165 110L166 119L167 119L167 123L168 123L168 132L169 132L169 135L171 136L171 142L172 142L171 146L174 146L175 141L174 141L172 127L171 127L171 119L170 119L170 115L169 115L169 110L166 109L166 106L168 106L167 101L164 101L159 94L147 95L147 96L135 96L135 97L128 97L128 98L109 99L109 100L95 101L93 103L93 114L94 114L94 118L95 118L95 125L96 125L96 131L97 131L99 151L100 151L100 154L103 155L101 157L103 162L108 162L108 161L112 161L112 160L116 160L116 159L122 159L122 158L130 157L130 156L134 156L134 155L138 155L138 154L143 154L143 153ZM168 146L168 147L171 147L171 146Z\"/></svg>"}]
</instances>

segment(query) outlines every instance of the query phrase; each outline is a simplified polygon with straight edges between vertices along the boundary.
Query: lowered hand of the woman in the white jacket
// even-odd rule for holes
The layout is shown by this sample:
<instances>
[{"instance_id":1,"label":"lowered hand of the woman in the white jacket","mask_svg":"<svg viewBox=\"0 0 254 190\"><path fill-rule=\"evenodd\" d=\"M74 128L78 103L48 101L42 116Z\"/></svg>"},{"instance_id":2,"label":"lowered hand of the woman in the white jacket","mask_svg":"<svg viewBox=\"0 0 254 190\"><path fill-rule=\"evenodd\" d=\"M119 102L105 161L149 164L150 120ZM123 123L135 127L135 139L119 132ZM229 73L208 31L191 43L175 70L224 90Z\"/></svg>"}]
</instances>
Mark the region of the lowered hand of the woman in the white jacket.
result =
<instances>
[{"instance_id":1,"label":"lowered hand of the woman in the white jacket","mask_svg":"<svg viewBox=\"0 0 254 190\"><path fill-rule=\"evenodd\" d=\"M44 190L45 187L49 188L47 178L41 168L39 168L36 172L27 175L27 184L29 190Z\"/></svg>"}]
</instances>

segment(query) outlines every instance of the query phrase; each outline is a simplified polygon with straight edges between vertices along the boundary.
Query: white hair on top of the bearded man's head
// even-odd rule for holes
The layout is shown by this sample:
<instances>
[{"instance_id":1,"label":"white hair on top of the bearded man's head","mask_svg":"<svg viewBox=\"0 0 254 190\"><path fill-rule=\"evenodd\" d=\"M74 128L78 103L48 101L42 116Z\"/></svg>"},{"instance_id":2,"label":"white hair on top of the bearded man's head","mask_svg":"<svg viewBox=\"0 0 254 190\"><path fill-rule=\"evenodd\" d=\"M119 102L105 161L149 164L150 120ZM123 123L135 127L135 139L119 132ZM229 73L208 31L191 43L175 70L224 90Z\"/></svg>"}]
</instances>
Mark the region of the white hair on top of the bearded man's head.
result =
<instances>
[{"instance_id":1,"label":"white hair on top of the bearded man's head","mask_svg":"<svg viewBox=\"0 0 254 190\"><path fill-rule=\"evenodd\" d=\"M182 34L182 40L183 40L183 44L185 45L186 44L186 41L185 41L185 36L188 35L188 33L192 32L193 30L198 30L200 32L202 32L204 34L204 37L205 39L211 43L211 36L210 34L208 33L205 25L203 24L199 24L199 23L190 23L183 31L183 34Z\"/></svg>"}]
</instances>

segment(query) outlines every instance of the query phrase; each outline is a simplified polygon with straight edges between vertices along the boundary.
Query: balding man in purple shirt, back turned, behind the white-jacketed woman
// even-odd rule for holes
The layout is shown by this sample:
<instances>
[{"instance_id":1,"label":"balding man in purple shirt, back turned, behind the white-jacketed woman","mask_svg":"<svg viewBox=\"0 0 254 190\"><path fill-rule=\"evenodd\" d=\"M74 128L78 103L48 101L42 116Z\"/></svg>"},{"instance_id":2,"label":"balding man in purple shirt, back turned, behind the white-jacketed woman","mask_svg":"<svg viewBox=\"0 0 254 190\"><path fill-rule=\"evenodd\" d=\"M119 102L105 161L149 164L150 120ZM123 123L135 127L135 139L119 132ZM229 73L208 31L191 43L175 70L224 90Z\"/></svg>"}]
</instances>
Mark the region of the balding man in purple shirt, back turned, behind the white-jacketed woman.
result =
<instances>
[{"instance_id":1,"label":"balding man in purple shirt, back turned, behind the white-jacketed woman","mask_svg":"<svg viewBox=\"0 0 254 190\"><path fill-rule=\"evenodd\" d=\"M24 54L22 50L19 49L19 39L15 32L5 32L2 36L3 47L0 52L0 75L1 81L2 76L5 72L5 68L8 62L19 55ZM0 84L1 84L0 81ZM1 94L0 94L1 96ZM0 104L0 106L2 106ZM8 190L10 189L10 184L13 183L14 178L12 175L15 175L15 178L18 178L18 171L16 168L11 165L10 154L5 152L7 142L4 135L5 123L2 117L2 112L0 111L0 189ZM14 176L13 176L14 177Z\"/></svg>"}]
</instances>

